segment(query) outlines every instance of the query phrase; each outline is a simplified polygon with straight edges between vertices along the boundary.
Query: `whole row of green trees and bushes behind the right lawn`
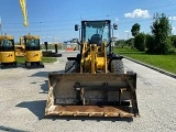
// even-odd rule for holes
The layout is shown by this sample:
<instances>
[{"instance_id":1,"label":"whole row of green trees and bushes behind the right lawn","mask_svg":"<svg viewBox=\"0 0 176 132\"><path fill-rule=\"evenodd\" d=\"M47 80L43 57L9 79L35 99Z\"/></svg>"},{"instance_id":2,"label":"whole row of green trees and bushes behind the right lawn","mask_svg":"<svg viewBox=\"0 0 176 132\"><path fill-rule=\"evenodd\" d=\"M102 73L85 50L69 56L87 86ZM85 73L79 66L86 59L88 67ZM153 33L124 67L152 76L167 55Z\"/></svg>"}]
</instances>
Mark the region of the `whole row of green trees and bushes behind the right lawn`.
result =
<instances>
[{"instance_id":1,"label":"whole row of green trees and bushes behind the right lawn","mask_svg":"<svg viewBox=\"0 0 176 132\"><path fill-rule=\"evenodd\" d=\"M176 35L172 34L172 25L168 18L162 13L156 13L153 24L150 26L151 33L140 32L141 25L132 25L132 38L119 40L116 46L128 46L136 48L147 54L176 54Z\"/></svg>"}]
</instances>

